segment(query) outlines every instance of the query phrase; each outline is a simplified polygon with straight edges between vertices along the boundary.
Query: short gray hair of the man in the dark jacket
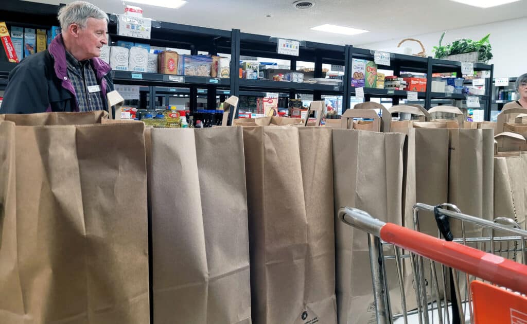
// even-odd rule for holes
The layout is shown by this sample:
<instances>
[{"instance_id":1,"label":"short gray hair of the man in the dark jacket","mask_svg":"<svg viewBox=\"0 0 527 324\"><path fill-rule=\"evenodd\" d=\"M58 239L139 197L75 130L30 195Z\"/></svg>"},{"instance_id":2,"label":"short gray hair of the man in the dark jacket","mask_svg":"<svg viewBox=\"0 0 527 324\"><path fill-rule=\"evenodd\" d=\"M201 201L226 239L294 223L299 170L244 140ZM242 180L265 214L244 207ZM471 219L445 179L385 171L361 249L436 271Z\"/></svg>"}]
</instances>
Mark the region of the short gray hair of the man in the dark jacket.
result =
<instances>
[{"instance_id":1,"label":"short gray hair of the man in the dark jacket","mask_svg":"<svg viewBox=\"0 0 527 324\"><path fill-rule=\"evenodd\" d=\"M77 24L81 28L86 27L88 18L106 19L109 22L108 15L99 7L85 1L74 1L63 6L58 11L58 21L61 23L62 30L67 30L71 24Z\"/></svg>"}]
</instances>

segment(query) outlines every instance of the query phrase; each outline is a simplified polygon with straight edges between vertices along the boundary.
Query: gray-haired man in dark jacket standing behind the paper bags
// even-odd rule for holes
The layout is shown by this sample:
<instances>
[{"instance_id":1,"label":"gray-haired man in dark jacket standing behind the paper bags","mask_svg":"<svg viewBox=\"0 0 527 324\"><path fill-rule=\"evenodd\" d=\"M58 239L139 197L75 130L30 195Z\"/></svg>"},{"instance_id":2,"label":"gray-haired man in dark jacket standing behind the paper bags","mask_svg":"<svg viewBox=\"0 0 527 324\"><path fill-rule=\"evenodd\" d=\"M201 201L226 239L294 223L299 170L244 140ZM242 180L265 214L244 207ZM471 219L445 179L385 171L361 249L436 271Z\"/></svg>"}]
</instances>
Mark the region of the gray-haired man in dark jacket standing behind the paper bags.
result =
<instances>
[{"instance_id":1,"label":"gray-haired man in dark jacket standing behind the paper bags","mask_svg":"<svg viewBox=\"0 0 527 324\"><path fill-rule=\"evenodd\" d=\"M58 21L62 34L48 50L24 58L9 74L0 113L106 109L111 67L98 56L108 44L108 15L76 1L60 9Z\"/></svg>"}]
</instances>

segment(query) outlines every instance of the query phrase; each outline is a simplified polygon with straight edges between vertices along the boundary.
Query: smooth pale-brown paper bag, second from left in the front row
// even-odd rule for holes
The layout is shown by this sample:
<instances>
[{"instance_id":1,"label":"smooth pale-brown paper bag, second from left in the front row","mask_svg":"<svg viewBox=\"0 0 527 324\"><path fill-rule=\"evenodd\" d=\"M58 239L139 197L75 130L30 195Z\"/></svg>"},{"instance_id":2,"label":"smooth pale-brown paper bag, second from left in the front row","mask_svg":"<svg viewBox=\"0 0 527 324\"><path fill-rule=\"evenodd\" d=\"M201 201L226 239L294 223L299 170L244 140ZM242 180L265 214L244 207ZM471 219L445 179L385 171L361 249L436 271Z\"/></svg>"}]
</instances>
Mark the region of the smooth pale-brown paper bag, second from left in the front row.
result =
<instances>
[{"instance_id":1,"label":"smooth pale-brown paper bag, second from left in the front row","mask_svg":"<svg viewBox=\"0 0 527 324\"><path fill-rule=\"evenodd\" d=\"M153 323L250 324L241 128L149 131Z\"/></svg>"}]
</instances>

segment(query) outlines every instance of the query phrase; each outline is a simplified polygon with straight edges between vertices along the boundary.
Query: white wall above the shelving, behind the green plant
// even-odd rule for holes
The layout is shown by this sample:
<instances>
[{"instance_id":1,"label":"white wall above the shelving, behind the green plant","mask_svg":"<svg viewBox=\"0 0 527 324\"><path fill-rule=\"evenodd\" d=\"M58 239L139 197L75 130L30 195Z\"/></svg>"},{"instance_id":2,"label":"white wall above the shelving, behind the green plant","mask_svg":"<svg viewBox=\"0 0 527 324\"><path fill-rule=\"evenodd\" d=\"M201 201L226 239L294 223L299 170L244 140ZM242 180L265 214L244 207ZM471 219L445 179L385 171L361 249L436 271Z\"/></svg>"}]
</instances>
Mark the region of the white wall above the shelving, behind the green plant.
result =
<instances>
[{"instance_id":1,"label":"white wall above the shelving, behind the green plant","mask_svg":"<svg viewBox=\"0 0 527 324\"><path fill-rule=\"evenodd\" d=\"M435 22L439 24L440 22ZM395 28L395 26L394 26ZM446 30L446 28L445 28ZM477 25L447 30L443 38L443 44L451 43L456 38L471 38L480 40L486 34L491 34L494 64L494 77L516 77L527 73L527 41L524 32L527 30L527 18L512 19L491 24ZM417 38L425 46L426 53L433 56L434 46L438 45L442 32L411 36ZM401 40L391 40L369 44L356 44L354 46L367 48L369 50L388 50L397 47ZM415 42L405 42L403 46L412 47L413 53L421 52L421 48Z\"/></svg>"}]
</instances>

